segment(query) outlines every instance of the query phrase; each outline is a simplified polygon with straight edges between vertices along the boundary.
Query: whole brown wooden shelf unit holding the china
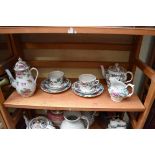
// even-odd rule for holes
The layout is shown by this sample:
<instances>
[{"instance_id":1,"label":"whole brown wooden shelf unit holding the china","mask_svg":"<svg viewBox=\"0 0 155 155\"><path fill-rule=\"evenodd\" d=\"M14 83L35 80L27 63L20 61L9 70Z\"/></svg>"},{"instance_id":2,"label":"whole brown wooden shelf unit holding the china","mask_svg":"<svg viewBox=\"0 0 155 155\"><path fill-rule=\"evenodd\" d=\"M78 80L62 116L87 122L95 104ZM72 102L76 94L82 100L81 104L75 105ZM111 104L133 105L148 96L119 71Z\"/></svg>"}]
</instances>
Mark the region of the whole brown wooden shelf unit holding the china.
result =
<instances>
[{"instance_id":1,"label":"whole brown wooden shelf unit holding the china","mask_svg":"<svg viewBox=\"0 0 155 155\"><path fill-rule=\"evenodd\" d=\"M70 43L70 45L66 45L61 43L59 45L35 45L35 44L20 44L18 37L15 34L31 34L31 33L68 33L69 27L0 27L0 34L8 35L8 42L10 46L10 50L14 53L11 59L0 64L0 74L4 74L5 68L12 68L13 64L16 62L19 56L24 57L22 54L23 47L31 47L38 48L39 46L47 47L47 48L64 48L71 47L78 49L91 49L98 47L97 44L91 45L75 45L74 43ZM6 125L8 128L14 128L15 124L12 118L9 116L7 112L8 107L14 108L26 108L26 109L59 109L59 110L80 110L80 111L120 111L120 112L129 112L130 122L133 128L143 128L147 116L149 114L150 108L155 98L155 71L151 69L149 66L144 64L141 60L139 60L139 52L142 43L143 35L155 35L155 28L136 28L136 27L74 27L77 34L91 34L91 35L103 35L103 34L114 34L114 35L134 35L135 40L133 44L129 46L110 46L104 44L102 47L99 44L99 49L104 48L129 48L130 56L129 61L124 63L124 66L135 72L136 67L138 67L150 80L151 84L148 89L148 94L144 103L140 101L137 95L133 95L131 98L124 100L121 103L113 103L110 100L110 96L107 92L107 88L105 87L105 92L96 98L85 99L73 94L71 90L66 91L62 94L46 94L42 92L40 89L37 90L36 94L30 98L21 98L17 95L16 92L13 92L7 100L4 100L2 95L2 91L0 91L0 110L3 115L3 118L6 121ZM69 35L77 35L77 34L69 34ZM27 60L26 60L27 61ZM84 67L86 68L96 68L101 64L105 66L111 65L113 62L76 62L76 61L41 61L41 60L31 60L28 61L31 65L37 66L38 68L41 66L43 68L49 66L59 66L59 67L68 67L72 65L73 67ZM89 65L88 65L89 64ZM63 99L63 100L62 100ZM133 115L134 112L138 112L138 117Z\"/></svg>"}]
</instances>

